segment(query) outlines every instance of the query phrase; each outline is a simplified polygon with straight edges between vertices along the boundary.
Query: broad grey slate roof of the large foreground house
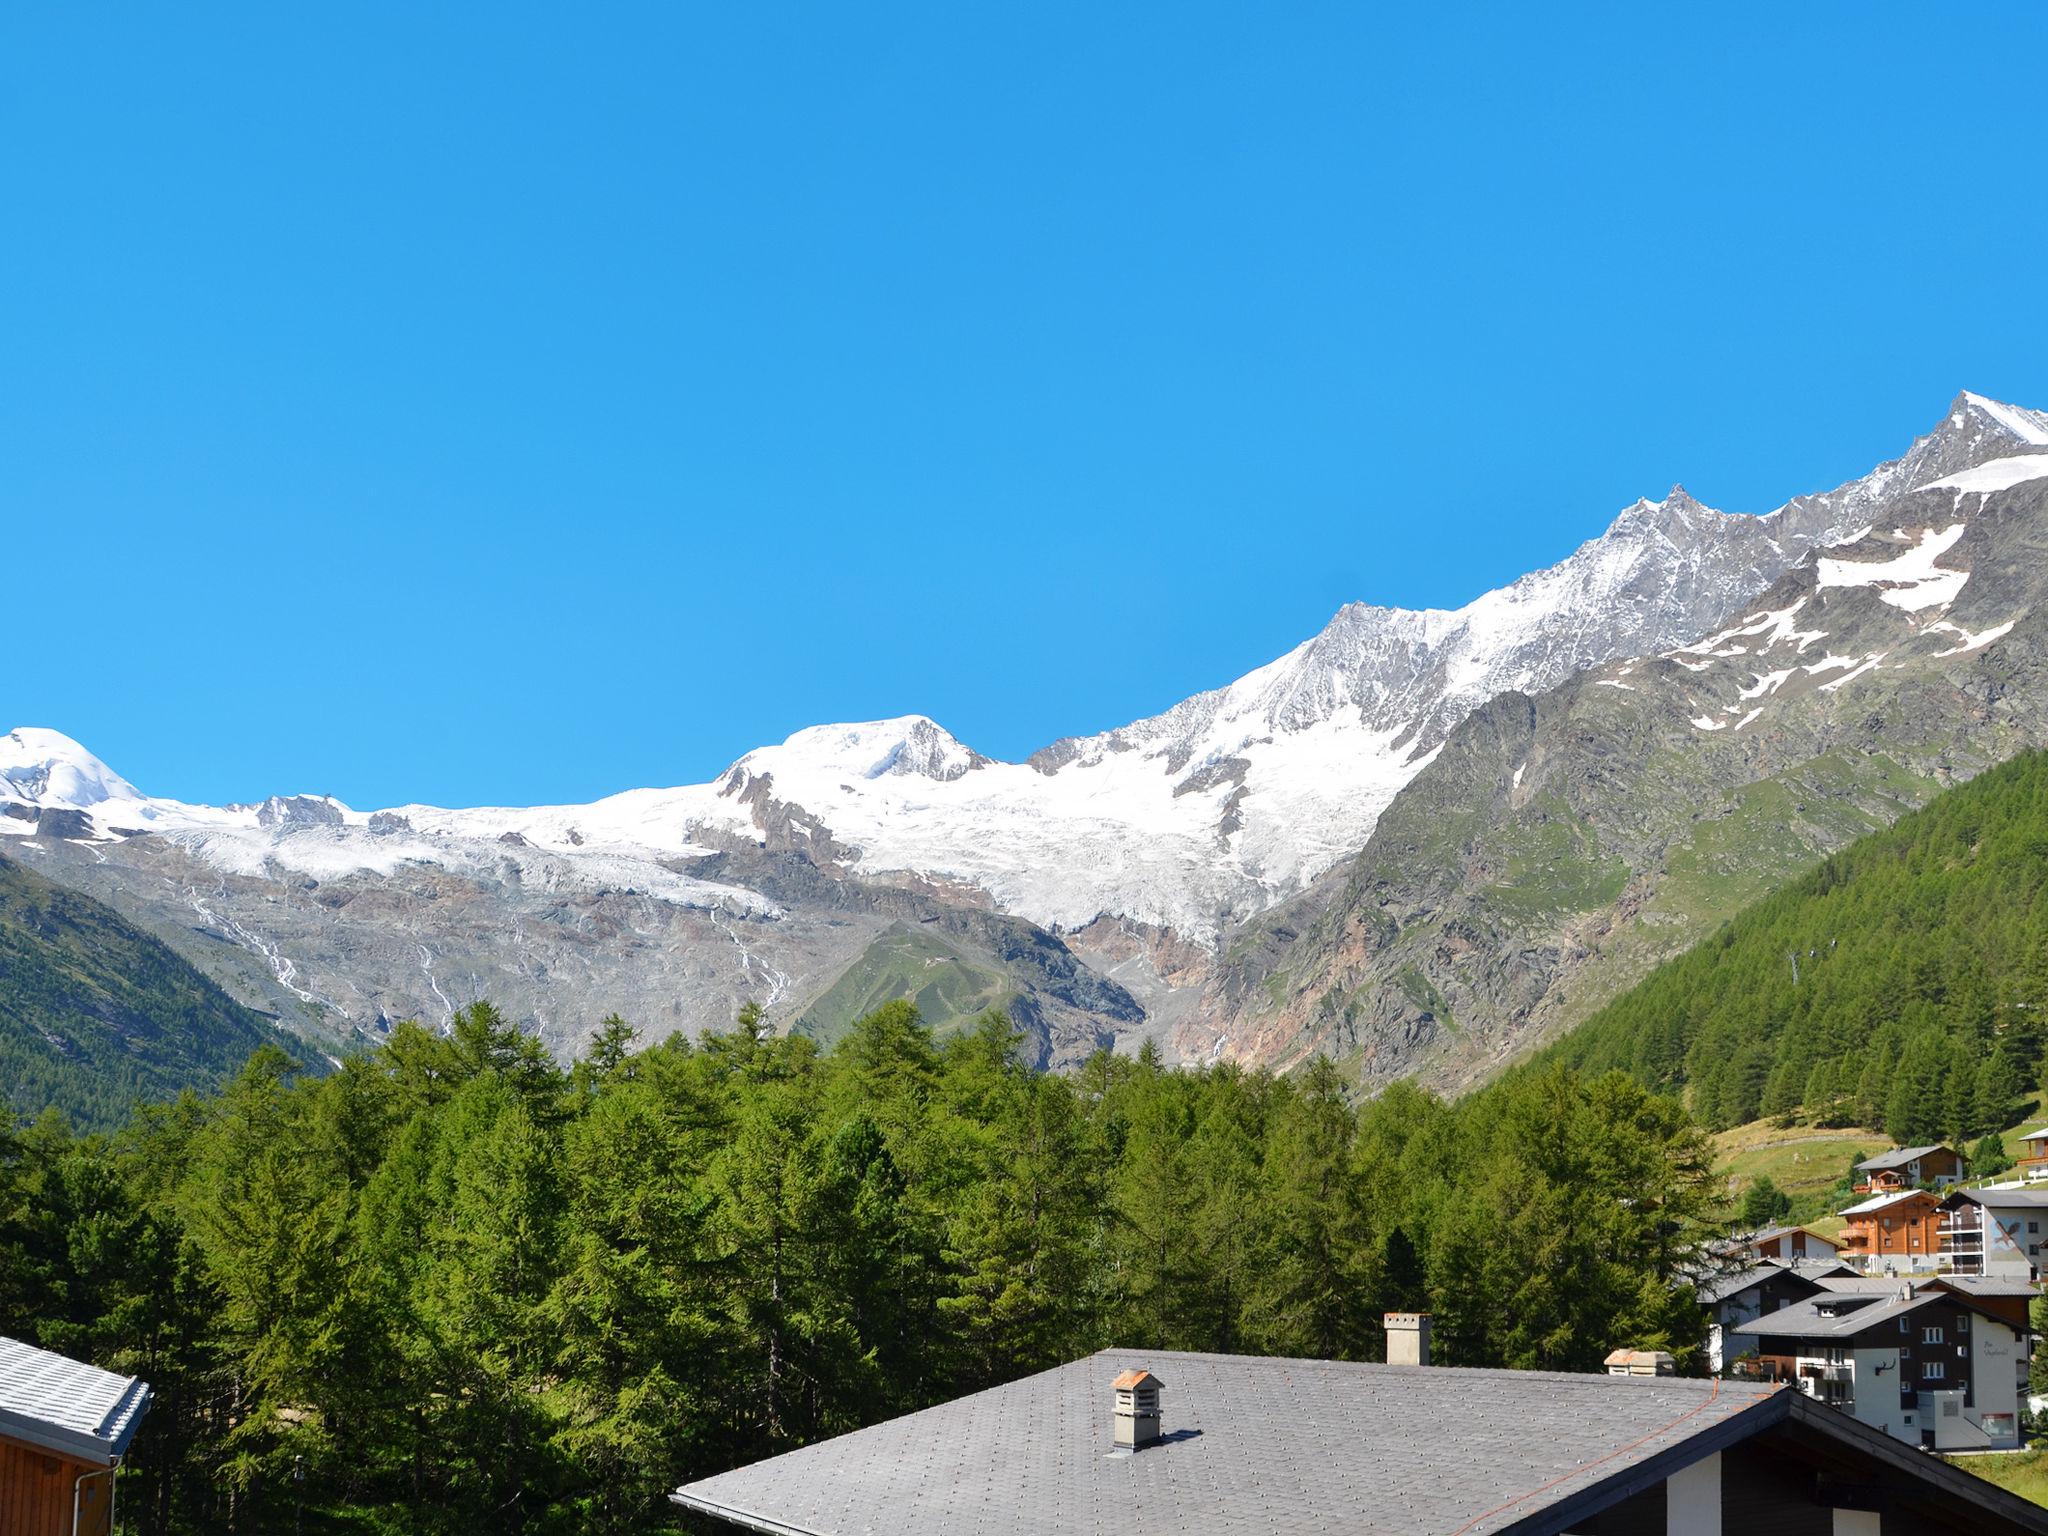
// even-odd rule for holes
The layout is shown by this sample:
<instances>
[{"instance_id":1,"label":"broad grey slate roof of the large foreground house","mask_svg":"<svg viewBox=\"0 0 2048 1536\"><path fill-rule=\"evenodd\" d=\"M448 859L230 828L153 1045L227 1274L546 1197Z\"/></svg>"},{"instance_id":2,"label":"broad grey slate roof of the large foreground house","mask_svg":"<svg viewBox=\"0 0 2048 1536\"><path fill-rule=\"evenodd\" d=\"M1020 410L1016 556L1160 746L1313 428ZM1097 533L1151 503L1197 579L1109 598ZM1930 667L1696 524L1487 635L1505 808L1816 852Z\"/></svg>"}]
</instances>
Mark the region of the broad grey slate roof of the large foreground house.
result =
<instances>
[{"instance_id":1,"label":"broad grey slate roof of the large foreground house","mask_svg":"<svg viewBox=\"0 0 2048 1536\"><path fill-rule=\"evenodd\" d=\"M1112 1456L1110 1380L1130 1368L1163 1382L1167 1442ZM1737 1419L1776 1421L1792 1395L1677 1376L1104 1350L690 1483L676 1501L776 1536L1565 1530L1554 1522L1585 1513L1589 1491L1667 1454L1718 1450L1747 1434Z\"/></svg>"}]
</instances>

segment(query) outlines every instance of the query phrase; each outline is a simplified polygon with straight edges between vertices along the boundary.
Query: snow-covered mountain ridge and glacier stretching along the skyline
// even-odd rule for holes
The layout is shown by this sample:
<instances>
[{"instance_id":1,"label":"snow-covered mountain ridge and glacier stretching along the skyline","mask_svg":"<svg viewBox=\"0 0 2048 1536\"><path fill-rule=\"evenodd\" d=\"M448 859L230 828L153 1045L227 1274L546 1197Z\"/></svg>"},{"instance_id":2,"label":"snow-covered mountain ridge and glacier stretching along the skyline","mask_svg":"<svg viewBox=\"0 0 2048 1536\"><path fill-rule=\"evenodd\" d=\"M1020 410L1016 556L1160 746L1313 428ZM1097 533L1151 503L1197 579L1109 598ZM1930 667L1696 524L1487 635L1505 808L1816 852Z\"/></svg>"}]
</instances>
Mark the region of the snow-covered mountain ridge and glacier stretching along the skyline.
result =
<instances>
[{"instance_id":1,"label":"snow-covered mountain ridge and glacier stretching along the skyline","mask_svg":"<svg viewBox=\"0 0 2048 1536\"><path fill-rule=\"evenodd\" d=\"M799 731L711 784L571 807L358 813L319 797L195 807L141 795L53 731L12 733L0 774L18 829L43 811L76 811L92 836L180 834L233 870L389 872L518 838L567 866L604 860L602 879L625 860L643 883L672 887L655 860L737 840L805 848L858 877L973 887L1059 930L1108 915L1212 942L1362 848L1395 793L1487 698L1686 645L1815 549L1860 535L1888 496L2042 449L2048 414L1964 393L1903 459L1835 492L1731 516L1673 487L1464 608L1348 604L1227 688L1022 764L911 715ZM707 897L694 883L672 889Z\"/></svg>"}]
</instances>

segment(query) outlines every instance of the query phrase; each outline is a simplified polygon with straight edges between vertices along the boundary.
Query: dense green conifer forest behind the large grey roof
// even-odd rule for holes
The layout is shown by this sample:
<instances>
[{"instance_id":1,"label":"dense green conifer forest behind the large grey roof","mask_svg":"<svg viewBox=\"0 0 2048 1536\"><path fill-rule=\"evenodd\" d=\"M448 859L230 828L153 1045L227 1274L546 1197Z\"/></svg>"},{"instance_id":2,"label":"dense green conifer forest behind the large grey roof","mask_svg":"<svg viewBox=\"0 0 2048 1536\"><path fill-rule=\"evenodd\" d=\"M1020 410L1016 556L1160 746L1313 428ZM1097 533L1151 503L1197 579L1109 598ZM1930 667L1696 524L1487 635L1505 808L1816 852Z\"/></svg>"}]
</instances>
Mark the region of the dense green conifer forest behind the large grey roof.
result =
<instances>
[{"instance_id":1,"label":"dense green conifer forest behind the large grey roof","mask_svg":"<svg viewBox=\"0 0 2048 1536\"><path fill-rule=\"evenodd\" d=\"M135 1372L143 1532L645 1532L678 1483L1090 1350L1692 1360L1712 1202L1673 1098L1518 1073L1354 1108L907 1004L569 1069L479 1004L326 1077L0 1141L0 1331ZM297 1524L295 1524L297 1522Z\"/></svg>"}]
</instances>

